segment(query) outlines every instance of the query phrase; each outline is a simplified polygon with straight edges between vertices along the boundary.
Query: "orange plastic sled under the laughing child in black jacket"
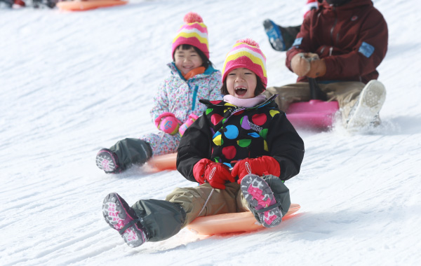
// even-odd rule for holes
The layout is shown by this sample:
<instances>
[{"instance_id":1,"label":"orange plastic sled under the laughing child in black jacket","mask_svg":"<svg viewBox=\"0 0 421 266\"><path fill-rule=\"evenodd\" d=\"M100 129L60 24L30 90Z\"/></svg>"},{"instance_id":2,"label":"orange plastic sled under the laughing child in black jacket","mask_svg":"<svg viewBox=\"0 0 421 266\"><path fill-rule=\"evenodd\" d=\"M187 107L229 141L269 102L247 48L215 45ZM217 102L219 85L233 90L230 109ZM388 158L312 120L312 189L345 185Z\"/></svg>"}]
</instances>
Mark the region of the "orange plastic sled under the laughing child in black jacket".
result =
<instances>
[{"instance_id":1,"label":"orange plastic sled under the laughing child in black jacket","mask_svg":"<svg viewBox=\"0 0 421 266\"><path fill-rule=\"evenodd\" d=\"M299 204L291 204L282 220L300 209ZM221 235L233 232L251 232L265 228L258 223L251 211L235 214L218 214L213 216L198 217L187 225L187 229L198 235Z\"/></svg>"}]
</instances>

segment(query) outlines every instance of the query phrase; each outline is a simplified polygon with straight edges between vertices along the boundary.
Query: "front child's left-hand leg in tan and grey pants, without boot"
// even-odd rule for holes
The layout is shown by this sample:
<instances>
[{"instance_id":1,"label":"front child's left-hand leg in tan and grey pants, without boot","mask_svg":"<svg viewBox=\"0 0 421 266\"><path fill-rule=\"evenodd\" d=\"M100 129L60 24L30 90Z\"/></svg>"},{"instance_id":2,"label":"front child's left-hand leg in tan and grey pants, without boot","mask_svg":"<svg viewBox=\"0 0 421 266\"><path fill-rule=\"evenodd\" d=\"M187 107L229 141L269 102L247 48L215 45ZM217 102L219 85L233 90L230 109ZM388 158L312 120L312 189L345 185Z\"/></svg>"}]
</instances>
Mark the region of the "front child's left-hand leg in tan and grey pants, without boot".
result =
<instances>
[{"instance_id":1,"label":"front child's left-hand leg in tan and grey pants, without boot","mask_svg":"<svg viewBox=\"0 0 421 266\"><path fill-rule=\"evenodd\" d=\"M175 188L166 200L139 200L130 209L140 223L138 227L144 228L147 241L161 241L176 235L198 216L236 212L237 183L227 184L225 190L212 190L208 184Z\"/></svg>"}]
</instances>

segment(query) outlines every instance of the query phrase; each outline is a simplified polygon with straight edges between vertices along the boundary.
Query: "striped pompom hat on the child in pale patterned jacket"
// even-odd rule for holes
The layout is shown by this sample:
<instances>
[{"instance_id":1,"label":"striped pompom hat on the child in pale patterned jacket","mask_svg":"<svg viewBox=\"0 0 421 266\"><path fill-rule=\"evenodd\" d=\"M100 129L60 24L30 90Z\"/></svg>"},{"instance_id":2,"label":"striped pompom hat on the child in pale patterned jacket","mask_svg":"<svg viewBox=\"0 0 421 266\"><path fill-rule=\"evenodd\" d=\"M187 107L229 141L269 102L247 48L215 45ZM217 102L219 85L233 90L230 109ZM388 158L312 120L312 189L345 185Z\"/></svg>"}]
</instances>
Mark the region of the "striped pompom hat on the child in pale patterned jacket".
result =
<instances>
[{"instance_id":1,"label":"striped pompom hat on the child in pale patterned jacket","mask_svg":"<svg viewBox=\"0 0 421 266\"><path fill-rule=\"evenodd\" d=\"M199 48L209 59L208 28L203 24L203 19L197 13L189 12L184 17L184 22L173 39L171 55L174 55L178 45L189 44Z\"/></svg>"}]
</instances>

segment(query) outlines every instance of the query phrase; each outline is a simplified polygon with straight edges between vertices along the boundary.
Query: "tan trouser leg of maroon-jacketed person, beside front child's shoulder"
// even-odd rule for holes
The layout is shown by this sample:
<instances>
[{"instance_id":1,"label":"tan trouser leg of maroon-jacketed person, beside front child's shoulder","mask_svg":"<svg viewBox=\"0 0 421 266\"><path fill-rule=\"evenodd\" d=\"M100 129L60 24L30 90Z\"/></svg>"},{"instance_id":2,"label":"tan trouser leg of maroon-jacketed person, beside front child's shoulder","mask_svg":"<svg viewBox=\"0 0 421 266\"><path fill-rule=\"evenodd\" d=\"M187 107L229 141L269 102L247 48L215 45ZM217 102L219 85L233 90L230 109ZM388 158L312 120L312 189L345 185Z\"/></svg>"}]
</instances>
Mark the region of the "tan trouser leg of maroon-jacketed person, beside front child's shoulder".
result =
<instances>
[{"instance_id":1,"label":"tan trouser leg of maroon-jacketed person, beside front child's shoulder","mask_svg":"<svg viewBox=\"0 0 421 266\"><path fill-rule=\"evenodd\" d=\"M279 94L275 102L282 111L288 110L293 102L307 102L311 99L310 86L307 82L293 83L282 87L268 87L264 92L266 97Z\"/></svg>"}]
</instances>

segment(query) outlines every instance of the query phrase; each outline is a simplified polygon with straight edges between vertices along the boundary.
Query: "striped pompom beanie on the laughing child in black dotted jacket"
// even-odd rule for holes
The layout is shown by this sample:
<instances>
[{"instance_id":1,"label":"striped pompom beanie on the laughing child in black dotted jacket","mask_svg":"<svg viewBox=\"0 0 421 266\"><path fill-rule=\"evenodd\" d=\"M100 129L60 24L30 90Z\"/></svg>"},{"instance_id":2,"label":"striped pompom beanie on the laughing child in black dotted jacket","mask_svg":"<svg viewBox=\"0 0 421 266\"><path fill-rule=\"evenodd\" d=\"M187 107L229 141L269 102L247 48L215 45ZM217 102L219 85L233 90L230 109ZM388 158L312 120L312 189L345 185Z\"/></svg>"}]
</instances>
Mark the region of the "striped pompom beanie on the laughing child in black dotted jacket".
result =
<instances>
[{"instance_id":1,"label":"striped pompom beanie on the laughing child in black dotted jacket","mask_svg":"<svg viewBox=\"0 0 421 266\"><path fill-rule=\"evenodd\" d=\"M266 87L266 57L260 50L259 44L250 38L236 41L232 50L228 52L222 69L222 82L225 81L229 72L241 67L253 71Z\"/></svg>"}]
</instances>

